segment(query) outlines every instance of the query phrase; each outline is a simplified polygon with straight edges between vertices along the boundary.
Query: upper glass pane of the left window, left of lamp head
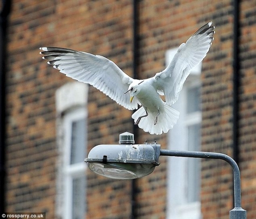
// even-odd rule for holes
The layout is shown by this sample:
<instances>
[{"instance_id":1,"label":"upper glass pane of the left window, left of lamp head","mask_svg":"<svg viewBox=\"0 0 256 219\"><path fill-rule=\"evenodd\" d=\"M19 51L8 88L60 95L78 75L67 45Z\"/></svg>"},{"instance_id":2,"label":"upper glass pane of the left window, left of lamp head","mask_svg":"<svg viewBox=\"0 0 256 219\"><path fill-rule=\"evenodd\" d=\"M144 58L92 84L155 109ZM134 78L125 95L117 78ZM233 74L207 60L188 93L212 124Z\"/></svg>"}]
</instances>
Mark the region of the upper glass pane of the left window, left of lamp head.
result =
<instances>
[{"instance_id":1,"label":"upper glass pane of the left window, left of lamp head","mask_svg":"<svg viewBox=\"0 0 256 219\"><path fill-rule=\"evenodd\" d=\"M86 120L80 119L72 122L71 157L70 164L84 161L86 145Z\"/></svg>"}]
</instances>

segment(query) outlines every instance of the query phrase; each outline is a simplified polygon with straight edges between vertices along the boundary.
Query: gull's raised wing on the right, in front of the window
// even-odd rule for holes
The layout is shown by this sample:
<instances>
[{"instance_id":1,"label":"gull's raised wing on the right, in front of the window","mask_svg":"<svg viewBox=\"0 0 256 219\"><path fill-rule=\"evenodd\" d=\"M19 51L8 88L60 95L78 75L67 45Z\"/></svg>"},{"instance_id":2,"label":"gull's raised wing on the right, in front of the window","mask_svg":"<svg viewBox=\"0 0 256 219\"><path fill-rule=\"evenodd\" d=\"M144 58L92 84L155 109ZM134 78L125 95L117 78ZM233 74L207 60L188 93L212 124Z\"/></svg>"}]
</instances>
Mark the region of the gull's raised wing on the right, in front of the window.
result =
<instances>
[{"instance_id":1,"label":"gull's raised wing on the right, in front of the window","mask_svg":"<svg viewBox=\"0 0 256 219\"><path fill-rule=\"evenodd\" d=\"M152 78L159 93L164 92L168 105L177 101L190 70L205 58L213 42L214 28L212 22L202 26L180 45L167 68Z\"/></svg>"}]
</instances>

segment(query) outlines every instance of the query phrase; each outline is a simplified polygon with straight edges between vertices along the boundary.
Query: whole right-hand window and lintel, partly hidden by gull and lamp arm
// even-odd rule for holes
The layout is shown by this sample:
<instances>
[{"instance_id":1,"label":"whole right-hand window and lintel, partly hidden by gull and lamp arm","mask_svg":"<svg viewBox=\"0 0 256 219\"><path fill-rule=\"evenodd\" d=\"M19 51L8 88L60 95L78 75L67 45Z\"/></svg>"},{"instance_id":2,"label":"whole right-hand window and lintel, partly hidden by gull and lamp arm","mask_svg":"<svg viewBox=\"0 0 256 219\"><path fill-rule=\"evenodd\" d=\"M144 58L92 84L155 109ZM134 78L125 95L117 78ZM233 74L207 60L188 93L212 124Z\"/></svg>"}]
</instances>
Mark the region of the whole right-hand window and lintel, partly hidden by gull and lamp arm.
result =
<instances>
[{"instance_id":1,"label":"whole right-hand window and lintel, partly hidden by gull and lamp arm","mask_svg":"<svg viewBox=\"0 0 256 219\"><path fill-rule=\"evenodd\" d=\"M177 48L167 51L169 63ZM173 107L180 112L177 124L169 132L171 150L200 151L201 136L201 64L190 73ZM167 218L200 219L200 159L168 158Z\"/></svg>"}]
</instances>

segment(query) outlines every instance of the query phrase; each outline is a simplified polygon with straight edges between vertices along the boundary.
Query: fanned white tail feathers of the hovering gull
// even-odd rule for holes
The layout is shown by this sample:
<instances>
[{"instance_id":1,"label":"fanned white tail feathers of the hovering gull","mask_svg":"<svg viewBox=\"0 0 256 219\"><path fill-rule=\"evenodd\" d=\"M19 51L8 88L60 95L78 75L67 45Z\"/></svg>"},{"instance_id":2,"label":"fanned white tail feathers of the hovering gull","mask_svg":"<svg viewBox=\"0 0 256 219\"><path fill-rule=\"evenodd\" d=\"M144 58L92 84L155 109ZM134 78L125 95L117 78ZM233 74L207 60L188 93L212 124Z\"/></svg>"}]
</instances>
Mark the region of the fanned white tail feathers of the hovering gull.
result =
<instances>
[{"instance_id":1,"label":"fanned white tail feathers of the hovering gull","mask_svg":"<svg viewBox=\"0 0 256 219\"><path fill-rule=\"evenodd\" d=\"M140 116L144 116L145 114L145 109L141 107L135 113L133 113L131 117L136 122ZM148 116L141 118L138 126L145 132L149 132L152 135L161 135L163 132L167 133L170 129L172 129L172 127L176 124L177 119L179 118L179 114L180 113L176 109L173 109L171 106L164 104L164 112L160 113L158 116L157 124L154 125L156 115L148 112Z\"/></svg>"}]
</instances>

